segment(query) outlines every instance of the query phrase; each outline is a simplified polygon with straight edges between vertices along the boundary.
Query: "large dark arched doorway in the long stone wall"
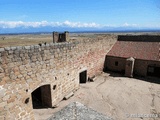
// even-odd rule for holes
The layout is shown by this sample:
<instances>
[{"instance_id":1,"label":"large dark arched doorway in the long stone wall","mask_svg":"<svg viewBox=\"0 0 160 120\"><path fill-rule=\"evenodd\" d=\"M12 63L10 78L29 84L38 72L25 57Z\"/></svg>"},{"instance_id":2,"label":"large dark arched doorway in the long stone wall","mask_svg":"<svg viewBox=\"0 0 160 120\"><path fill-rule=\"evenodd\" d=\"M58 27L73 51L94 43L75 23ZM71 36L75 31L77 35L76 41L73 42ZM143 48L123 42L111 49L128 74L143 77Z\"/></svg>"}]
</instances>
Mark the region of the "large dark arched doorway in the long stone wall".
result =
<instances>
[{"instance_id":1,"label":"large dark arched doorway in the long stone wall","mask_svg":"<svg viewBox=\"0 0 160 120\"><path fill-rule=\"evenodd\" d=\"M44 85L32 92L33 109L52 107L50 85Z\"/></svg>"}]
</instances>

